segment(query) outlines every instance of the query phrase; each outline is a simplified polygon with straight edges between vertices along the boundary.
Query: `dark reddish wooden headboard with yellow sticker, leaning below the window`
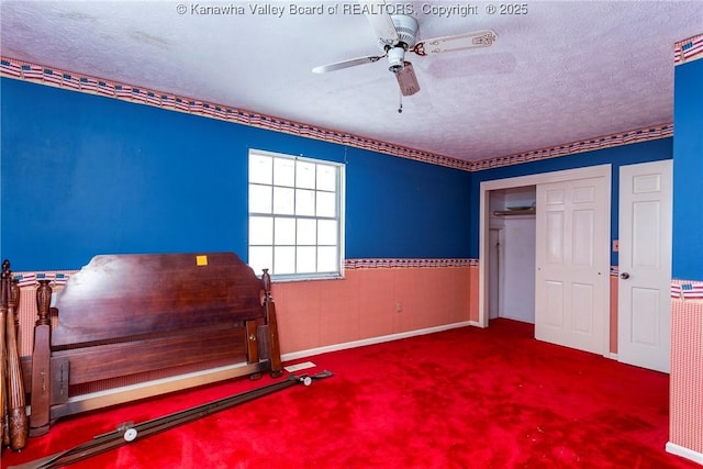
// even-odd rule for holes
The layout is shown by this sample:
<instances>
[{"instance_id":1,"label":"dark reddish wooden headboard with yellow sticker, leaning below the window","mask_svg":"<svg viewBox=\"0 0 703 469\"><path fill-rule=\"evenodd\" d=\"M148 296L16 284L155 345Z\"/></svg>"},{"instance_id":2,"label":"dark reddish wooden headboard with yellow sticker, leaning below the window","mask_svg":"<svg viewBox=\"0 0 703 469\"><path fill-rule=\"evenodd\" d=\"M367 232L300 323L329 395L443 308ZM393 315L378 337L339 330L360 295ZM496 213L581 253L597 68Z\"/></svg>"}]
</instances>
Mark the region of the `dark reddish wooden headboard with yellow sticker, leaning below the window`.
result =
<instances>
[{"instance_id":1,"label":"dark reddish wooden headboard with yellow sticker, leaning below the window","mask_svg":"<svg viewBox=\"0 0 703 469\"><path fill-rule=\"evenodd\" d=\"M258 278L235 254L96 256L55 308L46 289L37 289L33 436L79 412L281 375L270 277Z\"/></svg>"}]
</instances>

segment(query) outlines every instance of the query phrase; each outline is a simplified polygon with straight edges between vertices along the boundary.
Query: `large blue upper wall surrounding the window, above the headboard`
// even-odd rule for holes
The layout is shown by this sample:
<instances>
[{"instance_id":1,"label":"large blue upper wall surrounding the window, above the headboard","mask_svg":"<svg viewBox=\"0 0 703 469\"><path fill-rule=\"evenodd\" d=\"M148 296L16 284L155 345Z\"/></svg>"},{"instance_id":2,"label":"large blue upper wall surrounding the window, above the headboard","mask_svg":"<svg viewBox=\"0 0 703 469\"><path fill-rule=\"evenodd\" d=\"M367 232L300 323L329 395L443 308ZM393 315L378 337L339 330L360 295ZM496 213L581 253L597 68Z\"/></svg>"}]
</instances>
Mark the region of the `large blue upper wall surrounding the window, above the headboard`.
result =
<instances>
[{"instance_id":1,"label":"large blue upper wall surrounding the window, above the headboard","mask_svg":"<svg viewBox=\"0 0 703 469\"><path fill-rule=\"evenodd\" d=\"M471 175L3 78L0 257L247 253L248 148L346 163L346 257L469 257Z\"/></svg>"}]
</instances>

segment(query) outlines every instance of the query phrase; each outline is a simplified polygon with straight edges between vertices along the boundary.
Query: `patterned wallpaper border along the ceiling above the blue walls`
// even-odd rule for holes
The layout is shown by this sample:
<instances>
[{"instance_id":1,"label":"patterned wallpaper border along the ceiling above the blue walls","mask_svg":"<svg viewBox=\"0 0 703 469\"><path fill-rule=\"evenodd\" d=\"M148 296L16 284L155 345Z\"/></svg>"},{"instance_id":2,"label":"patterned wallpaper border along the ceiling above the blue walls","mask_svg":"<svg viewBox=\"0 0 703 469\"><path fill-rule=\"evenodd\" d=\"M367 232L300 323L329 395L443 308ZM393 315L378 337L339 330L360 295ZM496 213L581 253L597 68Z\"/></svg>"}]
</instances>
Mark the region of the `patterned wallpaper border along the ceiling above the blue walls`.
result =
<instances>
[{"instance_id":1,"label":"patterned wallpaper border along the ceiling above the blue walls","mask_svg":"<svg viewBox=\"0 0 703 469\"><path fill-rule=\"evenodd\" d=\"M684 55L685 57L689 57L690 54L688 49ZM515 165L545 158L555 158L558 156L609 148L636 142L665 138L673 135L673 125L667 123L656 125L654 127L618 133L615 135L604 135L581 142L566 143L550 148L488 158L479 161L467 161L459 158L409 148L402 145L365 138L358 135L288 121L242 109L223 107L143 87L79 75L9 57L0 57L0 76L354 146L401 158L446 166L464 171L480 171L483 169L498 168L501 166Z\"/></svg>"}]
</instances>

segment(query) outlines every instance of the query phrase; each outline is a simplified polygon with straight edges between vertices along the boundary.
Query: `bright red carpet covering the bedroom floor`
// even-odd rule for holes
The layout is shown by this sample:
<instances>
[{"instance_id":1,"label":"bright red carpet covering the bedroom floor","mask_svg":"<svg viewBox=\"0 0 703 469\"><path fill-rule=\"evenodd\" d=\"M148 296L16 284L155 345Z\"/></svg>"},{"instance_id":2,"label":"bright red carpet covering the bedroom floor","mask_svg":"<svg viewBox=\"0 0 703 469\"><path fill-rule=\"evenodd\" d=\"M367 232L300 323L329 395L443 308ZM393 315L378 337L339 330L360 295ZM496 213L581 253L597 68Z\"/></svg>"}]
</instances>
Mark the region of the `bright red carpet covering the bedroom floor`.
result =
<instances>
[{"instance_id":1,"label":"bright red carpet covering the bedroom floor","mask_svg":"<svg viewBox=\"0 0 703 469\"><path fill-rule=\"evenodd\" d=\"M669 455L667 375L539 343L527 324L325 354L335 372L76 468L700 468ZM302 373L303 371L301 371ZM274 382L241 380L59 421L2 467Z\"/></svg>"}]
</instances>

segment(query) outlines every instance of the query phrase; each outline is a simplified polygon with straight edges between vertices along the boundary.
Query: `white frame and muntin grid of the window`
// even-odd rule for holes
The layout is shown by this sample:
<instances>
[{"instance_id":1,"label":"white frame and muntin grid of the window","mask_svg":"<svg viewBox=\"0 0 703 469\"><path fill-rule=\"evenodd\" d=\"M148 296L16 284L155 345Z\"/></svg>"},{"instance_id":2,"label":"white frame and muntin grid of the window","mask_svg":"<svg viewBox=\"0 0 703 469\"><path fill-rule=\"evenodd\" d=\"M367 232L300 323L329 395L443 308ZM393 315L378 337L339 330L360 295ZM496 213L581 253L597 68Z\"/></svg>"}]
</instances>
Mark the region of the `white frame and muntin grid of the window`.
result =
<instances>
[{"instance_id":1,"label":"white frame and muntin grid of the window","mask_svg":"<svg viewBox=\"0 0 703 469\"><path fill-rule=\"evenodd\" d=\"M263 156L263 157L269 157L271 158L271 175L270 175L270 181L268 182L260 182L260 181L252 181L250 180L250 175L252 175L252 160L253 157L257 157L257 156ZM309 164L314 164L315 166L315 187L314 189L310 189L310 188L303 188L301 189L298 186L298 180L297 177L293 177L293 182L292 183L286 183L286 185L279 185L277 183L276 180L276 164L274 161L279 160L279 163L283 163L286 160L288 161L293 161L294 165L294 172L298 171L298 161L302 161L302 163L309 163ZM320 189L317 187L317 178L316 178L316 170L317 170L317 166L323 166L323 167L330 167L330 168L334 168L336 171L336 182L335 182L335 191L331 191L331 190L326 190L326 189ZM249 259L249 265L254 268L254 270L256 271L257 275L260 273L260 270L263 268L268 268L269 272L271 273L271 278L276 281L294 281L294 280L315 280L315 279L333 279L333 278L344 278L344 232L345 232L345 213L344 213L344 194L345 194L345 166L343 164L339 163L334 163L334 161L327 161L327 160L323 160L323 159L316 159L316 158L309 158L309 157L304 157L304 156L294 156L294 155L286 155L286 154L281 154L281 153L272 153L272 152L267 152L267 150L261 150L261 149L256 149L256 148L249 148L249 153L248 153L248 174L249 177L247 179L247 193L248 193L248 238L247 238L247 246L248 246L248 259ZM297 176L297 172L295 172ZM253 200L253 191L254 190L258 190L258 191L266 191L267 189L270 190L270 198L271 198L271 203L270 203L270 209L268 211L260 211L260 210L255 210L256 209L256 202ZM293 213L281 213L278 212L276 213L276 203L275 203L275 191L276 189L282 189L282 190L292 190L293 194L299 193L301 190L302 191L312 191L314 192L314 198L315 201L317 199L317 197L320 194L326 193L326 194L331 194L334 193L335 196L335 215L327 215L327 216L321 216L317 213L314 214L299 214L299 213L294 213L298 209L295 208L295 196L293 196L293 200L291 202L292 205L292 210ZM316 209L316 203L315 203L315 211ZM253 220L254 221L265 221L266 219L270 219L270 226L271 226L271 235L270 235L270 242L266 242L266 243L257 243L257 242L253 242ZM288 243L283 243L283 244L277 244L277 234L276 234L276 226L278 224L278 222L284 221L284 220L291 220L294 222L294 225L297 226L294 233L289 234L286 237L293 237L294 241L292 242L292 244L290 242ZM298 226L299 226L299 221L304 221L304 220L309 220L309 221L314 221L316 227L320 226L320 221L335 221L336 222L336 246L333 244L324 244L324 243L320 243L320 239L316 237L315 242L313 244L310 243L302 243L299 244L300 239L299 239L299 233L298 233ZM266 222L265 222L266 223ZM266 233L266 232L264 232ZM316 235L319 234L319 232L316 232ZM310 249L314 247L314 252L315 252L315 256L320 253L320 248L324 248L324 247L336 247L336 256L335 256L335 260L336 260L336 269L334 270L324 270L321 271L320 270L320 264L317 263L317 257L315 257L315 271L298 271L299 268L299 263L298 263L298 253L300 253L300 250L302 249ZM267 248L270 247L270 256L271 256L271 261L270 261L270 266L265 266L265 265L257 265L257 259L256 256L253 256L253 248ZM279 248L289 248L289 253L292 248L292 252L294 254L294 260L293 260L293 266L294 266L294 270L293 272L287 271L284 273L279 273L276 271L276 263L277 263L277 252L279 249L277 249L277 247ZM269 264L269 263L267 263Z\"/></svg>"}]
</instances>

